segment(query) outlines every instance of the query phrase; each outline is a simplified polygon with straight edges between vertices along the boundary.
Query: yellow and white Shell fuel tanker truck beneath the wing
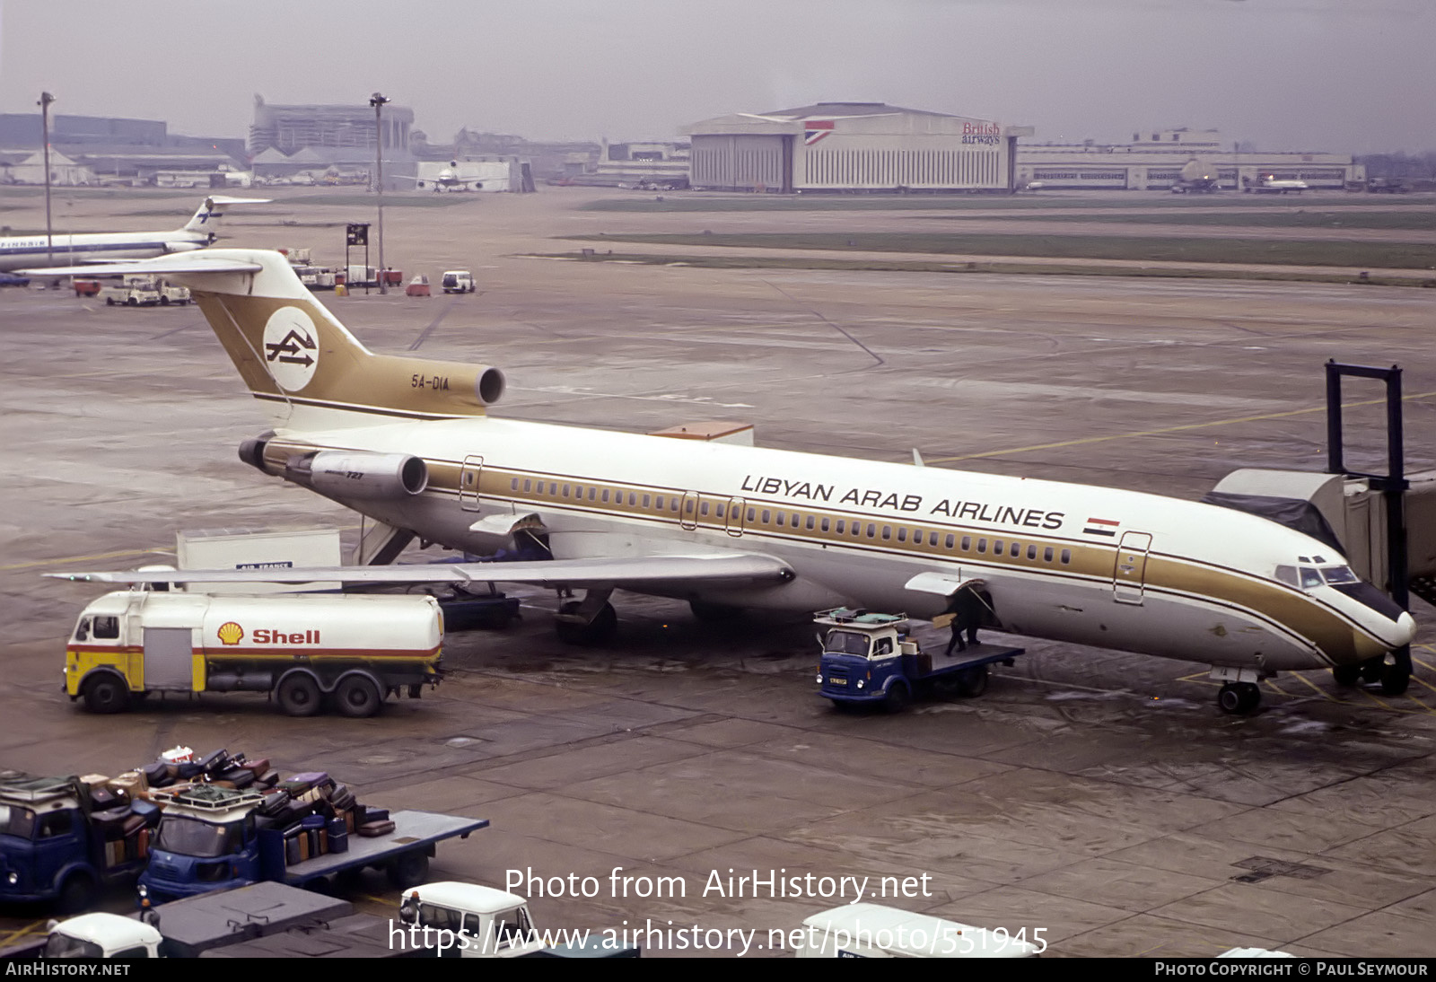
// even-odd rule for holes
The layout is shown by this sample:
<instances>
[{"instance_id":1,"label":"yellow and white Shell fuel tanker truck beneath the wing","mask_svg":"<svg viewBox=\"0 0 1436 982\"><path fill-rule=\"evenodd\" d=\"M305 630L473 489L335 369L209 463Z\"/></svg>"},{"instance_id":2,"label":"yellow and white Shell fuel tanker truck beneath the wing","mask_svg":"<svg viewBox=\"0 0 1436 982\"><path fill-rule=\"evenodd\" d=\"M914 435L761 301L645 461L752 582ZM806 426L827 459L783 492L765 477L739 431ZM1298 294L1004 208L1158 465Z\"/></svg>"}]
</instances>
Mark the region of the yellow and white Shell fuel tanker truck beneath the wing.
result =
<instances>
[{"instance_id":1,"label":"yellow and white Shell fuel tanker truck beneath the wing","mask_svg":"<svg viewBox=\"0 0 1436 982\"><path fill-rule=\"evenodd\" d=\"M292 716L372 716L438 685L444 619L422 594L238 596L138 587L85 607L65 692L90 712L152 693L267 692Z\"/></svg>"}]
</instances>

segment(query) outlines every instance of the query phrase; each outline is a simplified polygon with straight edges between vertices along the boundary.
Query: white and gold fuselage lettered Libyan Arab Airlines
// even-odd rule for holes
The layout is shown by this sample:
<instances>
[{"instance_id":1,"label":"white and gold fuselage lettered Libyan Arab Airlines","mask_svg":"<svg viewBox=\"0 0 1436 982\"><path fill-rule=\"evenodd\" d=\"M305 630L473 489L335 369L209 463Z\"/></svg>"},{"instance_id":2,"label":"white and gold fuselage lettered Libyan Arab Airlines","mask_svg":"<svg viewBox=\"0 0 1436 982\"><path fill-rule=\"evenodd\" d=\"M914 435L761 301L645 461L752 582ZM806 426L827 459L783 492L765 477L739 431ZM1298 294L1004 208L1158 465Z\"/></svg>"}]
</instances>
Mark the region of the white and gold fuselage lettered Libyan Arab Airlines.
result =
<instances>
[{"instance_id":1,"label":"white and gold fuselage lettered Libyan Arab Airlines","mask_svg":"<svg viewBox=\"0 0 1436 982\"><path fill-rule=\"evenodd\" d=\"M1320 577L1307 589L1277 579L1281 564L1343 563L1328 546L1159 495L493 418L280 431L276 442L422 457L422 494L336 500L452 548L493 551L501 517L538 515L560 560L738 551L797 574L639 587L659 596L931 617L945 597L906 584L939 573L982 580L1007 630L1212 665L1323 668L1410 640L1409 616L1397 623ZM461 484L465 469L478 480Z\"/></svg>"}]
</instances>

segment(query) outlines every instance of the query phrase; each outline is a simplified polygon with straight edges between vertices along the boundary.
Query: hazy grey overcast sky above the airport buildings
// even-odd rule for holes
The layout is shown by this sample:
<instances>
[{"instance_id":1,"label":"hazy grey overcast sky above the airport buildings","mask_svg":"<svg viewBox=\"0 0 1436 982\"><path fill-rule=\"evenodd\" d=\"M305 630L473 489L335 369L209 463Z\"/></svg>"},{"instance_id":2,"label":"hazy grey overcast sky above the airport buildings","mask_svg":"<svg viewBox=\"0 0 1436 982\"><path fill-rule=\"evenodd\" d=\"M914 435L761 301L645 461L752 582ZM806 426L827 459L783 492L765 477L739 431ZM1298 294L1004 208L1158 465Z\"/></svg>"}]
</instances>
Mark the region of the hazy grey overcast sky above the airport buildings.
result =
<instances>
[{"instance_id":1,"label":"hazy grey overcast sky above the airport buildings","mask_svg":"<svg viewBox=\"0 0 1436 982\"><path fill-rule=\"evenodd\" d=\"M1436 149L1436 0L0 0L0 112L247 136L267 102L530 139L663 139L819 100L1032 125Z\"/></svg>"}]
</instances>

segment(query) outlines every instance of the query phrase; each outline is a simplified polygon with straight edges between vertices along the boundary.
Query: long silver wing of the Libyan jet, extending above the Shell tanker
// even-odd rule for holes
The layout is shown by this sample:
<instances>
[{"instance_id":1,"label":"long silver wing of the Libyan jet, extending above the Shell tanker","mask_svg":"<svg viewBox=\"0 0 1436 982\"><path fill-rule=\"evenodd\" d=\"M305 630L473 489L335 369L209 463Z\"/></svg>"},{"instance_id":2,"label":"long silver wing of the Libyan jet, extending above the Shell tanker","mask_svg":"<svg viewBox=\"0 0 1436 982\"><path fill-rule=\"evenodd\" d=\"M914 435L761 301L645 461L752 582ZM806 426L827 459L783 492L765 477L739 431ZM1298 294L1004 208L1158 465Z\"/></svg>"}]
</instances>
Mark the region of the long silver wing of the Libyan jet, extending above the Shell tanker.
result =
<instances>
[{"instance_id":1,"label":"long silver wing of the Libyan jet, extending above the Shell tanker","mask_svg":"<svg viewBox=\"0 0 1436 982\"><path fill-rule=\"evenodd\" d=\"M639 556L533 563L409 563L294 570L131 570L46 573L76 583L533 583L544 587L625 587L652 583L787 583L794 573L770 556Z\"/></svg>"}]
</instances>

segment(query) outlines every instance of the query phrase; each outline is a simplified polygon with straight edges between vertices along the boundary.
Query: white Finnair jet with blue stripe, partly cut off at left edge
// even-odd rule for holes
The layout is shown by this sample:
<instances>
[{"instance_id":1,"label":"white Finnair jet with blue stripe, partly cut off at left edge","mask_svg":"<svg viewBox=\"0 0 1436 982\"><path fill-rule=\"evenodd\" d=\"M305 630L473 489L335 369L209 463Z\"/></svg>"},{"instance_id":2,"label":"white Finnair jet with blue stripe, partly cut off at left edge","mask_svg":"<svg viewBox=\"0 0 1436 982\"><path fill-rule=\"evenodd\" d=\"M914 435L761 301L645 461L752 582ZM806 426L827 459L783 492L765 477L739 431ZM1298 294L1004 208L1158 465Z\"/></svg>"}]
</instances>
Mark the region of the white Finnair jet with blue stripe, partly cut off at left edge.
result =
<instances>
[{"instance_id":1,"label":"white Finnair jet with blue stripe, partly cut off at left edge","mask_svg":"<svg viewBox=\"0 0 1436 982\"><path fill-rule=\"evenodd\" d=\"M17 270L37 263L50 266L113 263L204 248L213 246L220 237L220 220L224 218L224 210L228 205L267 204L267 201L269 198L211 195L200 204L200 210L188 223L172 231L86 233L55 235L53 240L47 240L43 234L0 238L0 270ZM89 268L66 270L66 273L90 271Z\"/></svg>"}]
</instances>

